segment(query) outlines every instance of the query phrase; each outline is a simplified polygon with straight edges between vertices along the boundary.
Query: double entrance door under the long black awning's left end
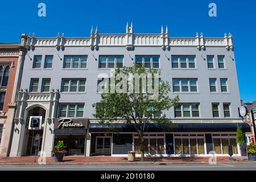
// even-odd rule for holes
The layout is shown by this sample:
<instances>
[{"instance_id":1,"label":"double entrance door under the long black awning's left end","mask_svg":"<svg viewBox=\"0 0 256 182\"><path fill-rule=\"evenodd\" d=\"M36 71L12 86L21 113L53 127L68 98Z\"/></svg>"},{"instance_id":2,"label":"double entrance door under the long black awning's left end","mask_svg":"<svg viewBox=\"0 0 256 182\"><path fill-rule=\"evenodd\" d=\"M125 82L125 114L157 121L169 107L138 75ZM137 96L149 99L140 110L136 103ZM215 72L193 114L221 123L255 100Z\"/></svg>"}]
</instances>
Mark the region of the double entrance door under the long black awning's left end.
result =
<instances>
[{"instance_id":1,"label":"double entrance door under the long black awning's left end","mask_svg":"<svg viewBox=\"0 0 256 182\"><path fill-rule=\"evenodd\" d=\"M96 154L110 155L111 137L96 137Z\"/></svg>"}]
</instances>

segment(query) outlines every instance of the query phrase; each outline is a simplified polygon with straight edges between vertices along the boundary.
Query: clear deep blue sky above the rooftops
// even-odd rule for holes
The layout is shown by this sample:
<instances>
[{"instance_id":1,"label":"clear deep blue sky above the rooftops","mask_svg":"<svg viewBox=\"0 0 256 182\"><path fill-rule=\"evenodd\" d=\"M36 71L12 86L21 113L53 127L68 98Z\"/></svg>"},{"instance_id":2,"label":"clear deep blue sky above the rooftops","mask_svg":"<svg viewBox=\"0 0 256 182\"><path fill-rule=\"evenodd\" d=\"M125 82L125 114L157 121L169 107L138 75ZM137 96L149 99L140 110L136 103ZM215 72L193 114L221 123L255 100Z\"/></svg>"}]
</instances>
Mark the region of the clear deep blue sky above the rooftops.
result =
<instances>
[{"instance_id":1,"label":"clear deep blue sky above the rooftops","mask_svg":"<svg viewBox=\"0 0 256 182\"><path fill-rule=\"evenodd\" d=\"M38 16L38 4L46 4L46 17ZM208 16L208 5L217 5L217 17ZM234 38L240 95L243 101L256 99L256 1L1 1L0 42L20 42L23 32L36 36L89 36L90 28L100 33L124 33L133 22L135 33L160 33L168 26L169 36Z\"/></svg>"}]
</instances>

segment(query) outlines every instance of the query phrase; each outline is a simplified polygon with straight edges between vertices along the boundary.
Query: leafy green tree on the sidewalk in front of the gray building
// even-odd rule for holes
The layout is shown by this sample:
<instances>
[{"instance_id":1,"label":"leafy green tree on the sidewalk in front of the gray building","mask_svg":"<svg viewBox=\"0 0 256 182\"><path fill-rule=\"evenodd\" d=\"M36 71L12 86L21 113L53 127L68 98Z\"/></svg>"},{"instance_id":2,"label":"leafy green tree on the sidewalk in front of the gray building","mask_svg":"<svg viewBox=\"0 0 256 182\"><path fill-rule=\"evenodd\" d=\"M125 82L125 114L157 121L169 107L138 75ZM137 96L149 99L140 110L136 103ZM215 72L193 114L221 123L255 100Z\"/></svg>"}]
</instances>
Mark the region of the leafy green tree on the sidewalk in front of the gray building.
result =
<instances>
[{"instance_id":1,"label":"leafy green tree on the sidewalk in front of the gray building","mask_svg":"<svg viewBox=\"0 0 256 182\"><path fill-rule=\"evenodd\" d=\"M118 74L123 74L127 79L119 78ZM179 96L170 98L168 93L171 90L170 84L166 81L151 81L147 80L146 92L143 92L143 81L139 79L139 92L129 92L129 88L136 88L135 78L130 78L131 75L143 75L151 74L152 80L156 78L156 75L160 72L156 69L145 69L139 65L133 67L124 67L122 69L115 70L114 76L110 80L116 80L115 83L109 84L106 81L105 86L110 88L110 85L114 85L115 88L126 90L126 93L111 92L111 88L104 93L101 93L100 103L93 104L96 108L96 113L93 114L95 118L100 119L101 123L123 121L130 123L137 131L140 141L141 161L144 161L144 132L147 132L148 125L150 123L158 123L163 126L171 126L170 118L163 114L163 110L169 110L176 102L179 101ZM129 79L130 78L130 79ZM121 82L123 84L121 84ZM108 85L109 84L109 85ZM127 86L125 85L127 84ZM137 82L138 85L138 82ZM158 87L157 92L148 92L148 88L151 86L155 90ZM138 87L137 87L138 89ZM152 96L154 99L152 99ZM111 127L110 127L111 128Z\"/></svg>"}]
</instances>

